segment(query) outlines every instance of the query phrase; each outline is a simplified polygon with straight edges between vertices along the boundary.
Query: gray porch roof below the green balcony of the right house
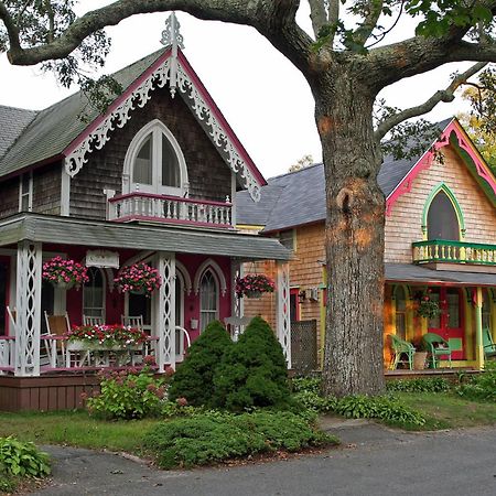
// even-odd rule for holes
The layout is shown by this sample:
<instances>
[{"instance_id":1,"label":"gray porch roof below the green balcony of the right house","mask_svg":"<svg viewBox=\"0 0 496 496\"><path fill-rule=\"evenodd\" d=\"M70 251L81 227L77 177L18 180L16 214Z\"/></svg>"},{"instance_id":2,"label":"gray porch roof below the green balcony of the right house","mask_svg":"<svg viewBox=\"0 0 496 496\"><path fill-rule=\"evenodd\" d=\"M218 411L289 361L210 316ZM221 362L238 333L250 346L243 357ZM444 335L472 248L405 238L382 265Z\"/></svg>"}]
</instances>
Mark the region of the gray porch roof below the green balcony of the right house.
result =
<instances>
[{"instance_id":1,"label":"gray porch roof below the green balcony of the right house","mask_svg":"<svg viewBox=\"0 0 496 496\"><path fill-rule=\"evenodd\" d=\"M385 263L386 282L496 287L496 273L433 270L412 263Z\"/></svg>"}]
</instances>

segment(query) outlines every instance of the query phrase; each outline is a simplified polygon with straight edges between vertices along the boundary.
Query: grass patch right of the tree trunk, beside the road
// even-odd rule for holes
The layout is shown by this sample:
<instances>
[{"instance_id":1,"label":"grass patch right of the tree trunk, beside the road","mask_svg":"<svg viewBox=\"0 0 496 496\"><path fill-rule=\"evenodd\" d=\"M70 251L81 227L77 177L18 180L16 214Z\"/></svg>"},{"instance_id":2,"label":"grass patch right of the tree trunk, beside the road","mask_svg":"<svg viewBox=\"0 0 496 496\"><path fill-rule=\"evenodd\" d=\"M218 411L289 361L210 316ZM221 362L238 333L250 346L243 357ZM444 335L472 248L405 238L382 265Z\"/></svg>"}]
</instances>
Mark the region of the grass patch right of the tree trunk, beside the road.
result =
<instances>
[{"instance_id":1,"label":"grass patch right of the tree trunk, beside the road","mask_svg":"<svg viewBox=\"0 0 496 496\"><path fill-rule=\"evenodd\" d=\"M422 430L496 424L496 403L470 401L450 392L397 392L396 396L428 418Z\"/></svg>"}]
</instances>

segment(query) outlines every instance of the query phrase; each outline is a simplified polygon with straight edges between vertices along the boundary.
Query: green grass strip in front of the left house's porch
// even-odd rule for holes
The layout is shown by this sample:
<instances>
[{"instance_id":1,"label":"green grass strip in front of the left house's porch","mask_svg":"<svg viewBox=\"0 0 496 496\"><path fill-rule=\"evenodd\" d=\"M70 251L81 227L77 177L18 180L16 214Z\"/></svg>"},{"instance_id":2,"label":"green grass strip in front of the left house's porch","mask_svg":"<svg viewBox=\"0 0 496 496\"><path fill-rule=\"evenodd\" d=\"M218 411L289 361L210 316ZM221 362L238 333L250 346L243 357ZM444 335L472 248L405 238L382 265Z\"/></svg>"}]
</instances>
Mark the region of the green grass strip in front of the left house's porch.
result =
<instances>
[{"instance_id":1,"label":"green grass strip in front of the left house's porch","mask_svg":"<svg viewBox=\"0 0 496 496\"><path fill-rule=\"evenodd\" d=\"M0 412L0 436L14 435L35 444L108 449L128 453L141 452L142 434L159 420L105 421L85 411Z\"/></svg>"}]
</instances>

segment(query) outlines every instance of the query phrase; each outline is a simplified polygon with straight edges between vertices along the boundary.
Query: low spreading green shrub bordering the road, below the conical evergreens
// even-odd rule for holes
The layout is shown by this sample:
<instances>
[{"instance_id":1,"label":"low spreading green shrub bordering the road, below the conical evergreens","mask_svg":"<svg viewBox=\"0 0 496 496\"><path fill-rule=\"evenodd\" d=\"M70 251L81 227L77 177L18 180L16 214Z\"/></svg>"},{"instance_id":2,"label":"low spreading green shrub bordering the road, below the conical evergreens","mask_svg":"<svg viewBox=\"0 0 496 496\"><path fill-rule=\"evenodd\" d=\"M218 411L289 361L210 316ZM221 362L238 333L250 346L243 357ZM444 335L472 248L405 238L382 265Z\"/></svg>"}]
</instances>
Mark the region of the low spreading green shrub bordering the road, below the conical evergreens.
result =
<instances>
[{"instance_id":1,"label":"low spreading green shrub bordering the road, below the conical evergreens","mask_svg":"<svg viewBox=\"0 0 496 496\"><path fill-rule=\"evenodd\" d=\"M191 467L276 450L337 443L290 413L256 412L241 416L215 412L164 422L148 432L145 445L163 468Z\"/></svg>"}]
</instances>

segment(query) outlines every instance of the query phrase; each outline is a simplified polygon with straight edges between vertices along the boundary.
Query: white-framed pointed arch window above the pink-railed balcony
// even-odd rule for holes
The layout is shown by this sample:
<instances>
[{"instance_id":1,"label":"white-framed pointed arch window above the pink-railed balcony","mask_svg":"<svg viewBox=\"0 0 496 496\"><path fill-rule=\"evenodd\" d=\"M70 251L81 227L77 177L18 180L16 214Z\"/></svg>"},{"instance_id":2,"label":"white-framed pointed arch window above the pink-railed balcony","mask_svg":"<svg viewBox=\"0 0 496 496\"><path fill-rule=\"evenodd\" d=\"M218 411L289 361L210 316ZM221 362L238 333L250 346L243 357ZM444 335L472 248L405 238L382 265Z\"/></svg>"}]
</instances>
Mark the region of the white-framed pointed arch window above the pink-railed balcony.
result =
<instances>
[{"instance_id":1,"label":"white-framed pointed arch window above the pink-railed balcony","mask_svg":"<svg viewBox=\"0 0 496 496\"><path fill-rule=\"evenodd\" d=\"M184 196L187 169L184 155L170 129L155 119L132 139L125 159L122 193Z\"/></svg>"}]
</instances>

